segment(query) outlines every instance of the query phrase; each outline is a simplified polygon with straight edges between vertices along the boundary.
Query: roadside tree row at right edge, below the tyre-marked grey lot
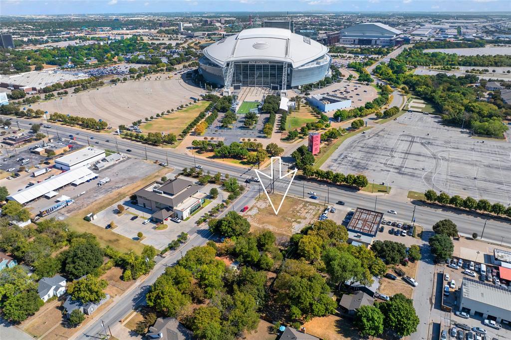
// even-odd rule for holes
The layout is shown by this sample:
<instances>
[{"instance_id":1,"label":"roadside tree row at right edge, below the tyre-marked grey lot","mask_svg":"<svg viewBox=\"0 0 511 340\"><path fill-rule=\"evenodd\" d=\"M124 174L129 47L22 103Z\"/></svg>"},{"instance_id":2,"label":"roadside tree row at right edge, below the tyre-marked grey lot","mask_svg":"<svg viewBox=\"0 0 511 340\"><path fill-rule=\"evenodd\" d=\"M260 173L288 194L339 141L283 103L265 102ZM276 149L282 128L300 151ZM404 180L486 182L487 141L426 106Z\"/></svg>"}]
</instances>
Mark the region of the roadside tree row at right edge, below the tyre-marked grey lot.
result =
<instances>
[{"instance_id":1,"label":"roadside tree row at right edge, below the tyre-marked grey lot","mask_svg":"<svg viewBox=\"0 0 511 340\"><path fill-rule=\"evenodd\" d=\"M470 196L462 198L459 195L449 196L446 192L436 193L435 190L427 190L424 197L428 202L435 202L443 206L452 206L456 208L464 208L472 211L491 212L496 215L506 215L511 217L511 206L505 207L501 203L491 204L488 200L476 200Z\"/></svg>"}]
</instances>

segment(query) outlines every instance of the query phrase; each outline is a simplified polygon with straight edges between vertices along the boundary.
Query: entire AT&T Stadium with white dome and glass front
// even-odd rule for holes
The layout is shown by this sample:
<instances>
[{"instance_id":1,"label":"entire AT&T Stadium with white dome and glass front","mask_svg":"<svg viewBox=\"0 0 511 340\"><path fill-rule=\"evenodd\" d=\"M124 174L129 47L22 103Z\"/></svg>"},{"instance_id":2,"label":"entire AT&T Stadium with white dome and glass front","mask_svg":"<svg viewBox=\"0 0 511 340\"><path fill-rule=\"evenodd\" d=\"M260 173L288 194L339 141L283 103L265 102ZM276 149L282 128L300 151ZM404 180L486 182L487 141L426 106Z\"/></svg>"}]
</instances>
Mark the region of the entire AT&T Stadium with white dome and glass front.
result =
<instances>
[{"instance_id":1,"label":"entire AT&T Stadium with white dome and glass front","mask_svg":"<svg viewBox=\"0 0 511 340\"><path fill-rule=\"evenodd\" d=\"M323 79L332 61L327 53L327 46L290 30L248 29L204 48L199 72L226 91L231 86L283 90Z\"/></svg>"}]
</instances>

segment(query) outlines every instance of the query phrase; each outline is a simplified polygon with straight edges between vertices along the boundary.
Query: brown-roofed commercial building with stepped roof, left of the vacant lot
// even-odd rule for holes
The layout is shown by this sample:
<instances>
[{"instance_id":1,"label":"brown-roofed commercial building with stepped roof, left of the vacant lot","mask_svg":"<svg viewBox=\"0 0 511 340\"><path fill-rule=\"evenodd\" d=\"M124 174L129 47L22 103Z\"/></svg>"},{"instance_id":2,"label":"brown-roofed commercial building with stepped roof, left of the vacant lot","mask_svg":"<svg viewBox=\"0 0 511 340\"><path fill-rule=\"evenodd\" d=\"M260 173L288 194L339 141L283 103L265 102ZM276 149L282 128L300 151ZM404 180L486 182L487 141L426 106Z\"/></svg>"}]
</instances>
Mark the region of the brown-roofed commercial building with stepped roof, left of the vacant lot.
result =
<instances>
[{"instance_id":1,"label":"brown-roofed commercial building with stepped roof, left of the vacant lot","mask_svg":"<svg viewBox=\"0 0 511 340\"><path fill-rule=\"evenodd\" d=\"M151 209L151 220L163 222L168 217L184 220L204 203L206 194L192 181L175 178L156 181L135 192L137 204Z\"/></svg>"}]
</instances>

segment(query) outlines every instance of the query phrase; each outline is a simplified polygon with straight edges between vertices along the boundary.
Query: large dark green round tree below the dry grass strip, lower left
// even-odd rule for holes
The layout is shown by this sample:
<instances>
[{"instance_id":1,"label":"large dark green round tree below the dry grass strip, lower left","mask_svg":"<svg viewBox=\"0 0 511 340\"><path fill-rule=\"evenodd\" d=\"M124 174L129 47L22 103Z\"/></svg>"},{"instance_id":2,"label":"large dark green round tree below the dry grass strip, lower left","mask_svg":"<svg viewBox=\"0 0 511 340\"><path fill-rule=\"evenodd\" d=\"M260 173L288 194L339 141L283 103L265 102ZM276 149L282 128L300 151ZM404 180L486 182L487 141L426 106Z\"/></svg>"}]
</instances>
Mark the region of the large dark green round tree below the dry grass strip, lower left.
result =
<instances>
[{"instance_id":1,"label":"large dark green round tree below the dry grass strip, lower left","mask_svg":"<svg viewBox=\"0 0 511 340\"><path fill-rule=\"evenodd\" d=\"M94 243L81 243L61 253L62 269L71 278L93 273L103 264L103 251Z\"/></svg>"}]
</instances>

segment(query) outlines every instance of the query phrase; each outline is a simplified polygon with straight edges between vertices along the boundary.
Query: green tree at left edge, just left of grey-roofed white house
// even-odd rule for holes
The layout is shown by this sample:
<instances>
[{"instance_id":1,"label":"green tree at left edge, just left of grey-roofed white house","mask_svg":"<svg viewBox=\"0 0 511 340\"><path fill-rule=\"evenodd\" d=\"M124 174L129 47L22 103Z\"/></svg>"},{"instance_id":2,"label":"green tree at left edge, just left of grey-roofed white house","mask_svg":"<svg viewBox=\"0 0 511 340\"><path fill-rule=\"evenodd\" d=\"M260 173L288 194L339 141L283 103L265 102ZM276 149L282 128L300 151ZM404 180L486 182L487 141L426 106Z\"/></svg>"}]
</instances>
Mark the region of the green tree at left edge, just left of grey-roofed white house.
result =
<instances>
[{"instance_id":1,"label":"green tree at left edge, just left of grey-roofed white house","mask_svg":"<svg viewBox=\"0 0 511 340\"><path fill-rule=\"evenodd\" d=\"M39 298L37 290L30 289L21 292L2 304L3 315L7 320L19 323L34 315L44 302Z\"/></svg>"}]
</instances>

